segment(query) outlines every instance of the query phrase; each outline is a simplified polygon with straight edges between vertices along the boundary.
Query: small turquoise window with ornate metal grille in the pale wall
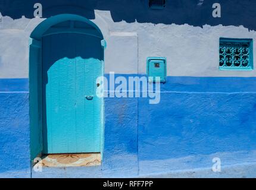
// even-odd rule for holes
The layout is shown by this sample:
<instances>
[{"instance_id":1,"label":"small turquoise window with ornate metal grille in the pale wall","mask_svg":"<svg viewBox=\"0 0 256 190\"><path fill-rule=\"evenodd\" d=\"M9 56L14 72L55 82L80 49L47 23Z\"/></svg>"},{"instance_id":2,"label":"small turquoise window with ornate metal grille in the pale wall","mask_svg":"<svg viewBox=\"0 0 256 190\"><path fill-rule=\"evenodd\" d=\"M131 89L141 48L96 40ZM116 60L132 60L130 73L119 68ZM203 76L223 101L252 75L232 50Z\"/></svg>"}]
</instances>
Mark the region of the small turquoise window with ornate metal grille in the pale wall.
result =
<instances>
[{"instance_id":1,"label":"small turquoise window with ornate metal grille in the pale wall","mask_svg":"<svg viewBox=\"0 0 256 190\"><path fill-rule=\"evenodd\" d=\"M220 38L220 70L253 69L252 39Z\"/></svg>"}]
</instances>

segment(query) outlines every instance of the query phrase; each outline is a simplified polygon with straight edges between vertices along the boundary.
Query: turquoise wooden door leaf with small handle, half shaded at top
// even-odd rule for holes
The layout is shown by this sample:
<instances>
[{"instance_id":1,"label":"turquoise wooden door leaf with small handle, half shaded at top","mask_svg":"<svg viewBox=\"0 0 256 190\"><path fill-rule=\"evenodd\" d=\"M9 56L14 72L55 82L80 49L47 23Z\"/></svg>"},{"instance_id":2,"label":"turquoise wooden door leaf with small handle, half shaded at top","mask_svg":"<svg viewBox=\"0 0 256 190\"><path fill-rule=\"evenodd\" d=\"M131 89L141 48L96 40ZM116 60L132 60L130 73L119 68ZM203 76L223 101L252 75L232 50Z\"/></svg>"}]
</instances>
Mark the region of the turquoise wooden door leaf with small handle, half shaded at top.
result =
<instances>
[{"instance_id":1,"label":"turquoise wooden door leaf with small handle, half shaded at top","mask_svg":"<svg viewBox=\"0 0 256 190\"><path fill-rule=\"evenodd\" d=\"M42 40L43 153L101 152L101 39L53 34Z\"/></svg>"}]
</instances>

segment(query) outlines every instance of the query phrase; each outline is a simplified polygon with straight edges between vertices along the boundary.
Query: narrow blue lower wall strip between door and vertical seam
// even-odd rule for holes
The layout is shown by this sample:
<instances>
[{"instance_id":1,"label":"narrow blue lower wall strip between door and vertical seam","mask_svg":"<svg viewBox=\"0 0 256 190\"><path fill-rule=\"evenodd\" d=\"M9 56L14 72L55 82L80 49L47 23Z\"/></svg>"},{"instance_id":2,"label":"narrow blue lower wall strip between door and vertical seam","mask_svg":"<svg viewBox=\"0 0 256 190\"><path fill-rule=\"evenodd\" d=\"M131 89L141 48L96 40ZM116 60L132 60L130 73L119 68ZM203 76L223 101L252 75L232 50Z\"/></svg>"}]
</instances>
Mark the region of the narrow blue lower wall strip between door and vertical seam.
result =
<instances>
[{"instance_id":1,"label":"narrow blue lower wall strip between door and vertical seam","mask_svg":"<svg viewBox=\"0 0 256 190\"><path fill-rule=\"evenodd\" d=\"M103 175L138 175L138 99L105 99Z\"/></svg>"}]
</instances>

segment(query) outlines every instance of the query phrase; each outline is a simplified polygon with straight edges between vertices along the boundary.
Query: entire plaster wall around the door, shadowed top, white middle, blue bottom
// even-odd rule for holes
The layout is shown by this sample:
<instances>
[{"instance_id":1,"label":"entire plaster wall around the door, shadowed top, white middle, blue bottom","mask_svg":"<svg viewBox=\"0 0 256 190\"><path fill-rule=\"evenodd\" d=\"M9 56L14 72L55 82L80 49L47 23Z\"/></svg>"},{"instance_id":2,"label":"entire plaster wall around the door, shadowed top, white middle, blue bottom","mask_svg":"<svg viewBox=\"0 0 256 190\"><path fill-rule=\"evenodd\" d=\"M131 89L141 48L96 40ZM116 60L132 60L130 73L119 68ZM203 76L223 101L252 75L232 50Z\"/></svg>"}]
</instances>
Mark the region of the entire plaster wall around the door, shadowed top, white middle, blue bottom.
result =
<instances>
[{"instance_id":1,"label":"entire plaster wall around the door, shadowed top, white middle, blue bottom","mask_svg":"<svg viewBox=\"0 0 256 190\"><path fill-rule=\"evenodd\" d=\"M29 36L49 12L61 14L65 8L42 2L45 18L33 18L33 1L10 2L11 7L0 2L0 177L30 177ZM148 10L145 2L76 1L79 6L65 11L83 15L101 29L107 41L107 77L111 71L143 75L148 56L166 57L168 77L161 85L160 104L105 99L102 166L45 169L32 177L161 176L195 168L206 168L195 176L213 175L213 157L224 166L240 164L240 177L256 176L247 167L256 162L256 71L218 70L220 37L252 38L256 55L256 3L221 1L223 18L214 19L213 1L199 7L197 1L168 1L162 12Z\"/></svg>"}]
</instances>

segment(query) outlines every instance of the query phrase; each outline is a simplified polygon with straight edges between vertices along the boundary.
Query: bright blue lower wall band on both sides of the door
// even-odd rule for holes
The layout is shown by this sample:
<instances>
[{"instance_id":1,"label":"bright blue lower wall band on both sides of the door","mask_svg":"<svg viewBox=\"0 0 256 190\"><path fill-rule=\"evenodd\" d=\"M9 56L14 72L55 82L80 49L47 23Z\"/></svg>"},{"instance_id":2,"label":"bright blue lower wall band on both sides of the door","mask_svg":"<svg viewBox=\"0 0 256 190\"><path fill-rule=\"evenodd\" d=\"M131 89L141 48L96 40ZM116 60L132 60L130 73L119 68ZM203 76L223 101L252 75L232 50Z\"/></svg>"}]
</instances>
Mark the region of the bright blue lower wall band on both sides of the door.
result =
<instances>
[{"instance_id":1,"label":"bright blue lower wall band on both sides of the door","mask_svg":"<svg viewBox=\"0 0 256 190\"><path fill-rule=\"evenodd\" d=\"M31 175L26 83L0 80L0 178ZM254 163L255 89L256 78L167 77L158 105L105 98L102 166L46 168L32 177L147 176L210 168L214 157L223 166Z\"/></svg>"}]
</instances>

